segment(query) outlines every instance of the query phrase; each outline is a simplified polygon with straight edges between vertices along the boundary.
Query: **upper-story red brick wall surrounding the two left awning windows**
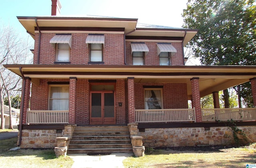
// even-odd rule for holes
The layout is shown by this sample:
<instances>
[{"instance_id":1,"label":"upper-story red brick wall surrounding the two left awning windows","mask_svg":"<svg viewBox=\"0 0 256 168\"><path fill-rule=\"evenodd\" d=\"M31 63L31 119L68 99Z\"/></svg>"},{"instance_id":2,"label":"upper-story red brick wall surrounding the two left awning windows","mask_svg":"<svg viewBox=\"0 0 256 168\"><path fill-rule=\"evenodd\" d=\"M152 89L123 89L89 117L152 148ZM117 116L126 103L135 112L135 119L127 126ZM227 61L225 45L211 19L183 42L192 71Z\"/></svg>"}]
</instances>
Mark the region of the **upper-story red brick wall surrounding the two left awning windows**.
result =
<instances>
[{"instance_id":1,"label":"upper-story red brick wall surrounding the two left awning windows","mask_svg":"<svg viewBox=\"0 0 256 168\"><path fill-rule=\"evenodd\" d=\"M124 35L104 34L103 62L106 65L124 65ZM40 44L40 64L54 64L56 50L50 44L55 33L42 33ZM88 33L72 33L70 64L88 64L89 49L85 43ZM34 64L37 64L39 33L35 36Z\"/></svg>"}]
</instances>

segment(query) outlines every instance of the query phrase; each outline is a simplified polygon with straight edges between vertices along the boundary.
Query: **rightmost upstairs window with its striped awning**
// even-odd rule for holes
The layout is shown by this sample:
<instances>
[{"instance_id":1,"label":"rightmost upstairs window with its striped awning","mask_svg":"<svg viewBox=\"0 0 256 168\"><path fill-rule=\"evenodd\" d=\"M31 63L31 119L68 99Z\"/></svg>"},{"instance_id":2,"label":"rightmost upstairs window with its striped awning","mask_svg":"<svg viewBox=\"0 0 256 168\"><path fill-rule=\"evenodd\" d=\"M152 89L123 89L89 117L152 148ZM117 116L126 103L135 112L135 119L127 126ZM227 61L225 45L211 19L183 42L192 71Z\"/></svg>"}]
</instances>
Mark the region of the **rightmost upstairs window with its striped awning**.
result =
<instances>
[{"instance_id":1,"label":"rightmost upstairs window with its striped awning","mask_svg":"<svg viewBox=\"0 0 256 168\"><path fill-rule=\"evenodd\" d=\"M171 65L171 56L176 52L176 48L171 43L157 43L160 65Z\"/></svg>"}]
</instances>

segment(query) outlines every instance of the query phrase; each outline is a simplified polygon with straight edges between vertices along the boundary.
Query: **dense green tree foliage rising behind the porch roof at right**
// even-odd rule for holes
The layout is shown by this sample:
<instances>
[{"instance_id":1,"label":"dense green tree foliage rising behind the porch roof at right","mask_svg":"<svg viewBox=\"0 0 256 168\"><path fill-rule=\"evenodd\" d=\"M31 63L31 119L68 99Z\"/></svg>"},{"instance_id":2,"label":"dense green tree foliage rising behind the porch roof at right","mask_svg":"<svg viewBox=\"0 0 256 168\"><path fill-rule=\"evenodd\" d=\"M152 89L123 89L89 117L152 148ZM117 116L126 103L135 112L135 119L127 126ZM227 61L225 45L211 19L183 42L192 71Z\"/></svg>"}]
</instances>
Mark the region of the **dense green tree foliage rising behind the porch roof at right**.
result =
<instances>
[{"instance_id":1,"label":"dense green tree foliage rising behind the porch roof at right","mask_svg":"<svg viewBox=\"0 0 256 168\"><path fill-rule=\"evenodd\" d=\"M182 16L184 28L198 29L188 45L203 65L256 65L255 0L188 0Z\"/></svg>"}]
</instances>

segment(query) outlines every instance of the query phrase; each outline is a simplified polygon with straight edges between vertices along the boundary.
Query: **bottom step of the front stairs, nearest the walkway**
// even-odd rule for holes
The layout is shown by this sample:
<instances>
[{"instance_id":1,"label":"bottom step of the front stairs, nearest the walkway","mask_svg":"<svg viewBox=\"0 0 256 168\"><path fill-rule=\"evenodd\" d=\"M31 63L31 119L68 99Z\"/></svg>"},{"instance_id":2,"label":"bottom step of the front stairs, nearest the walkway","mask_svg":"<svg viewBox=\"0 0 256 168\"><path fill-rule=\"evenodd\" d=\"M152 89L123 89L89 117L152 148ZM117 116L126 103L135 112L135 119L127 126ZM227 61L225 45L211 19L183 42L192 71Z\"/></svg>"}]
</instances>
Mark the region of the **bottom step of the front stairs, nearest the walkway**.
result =
<instances>
[{"instance_id":1,"label":"bottom step of the front stairs, nearest the walkway","mask_svg":"<svg viewBox=\"0 0 256 168\"><path fill-rule=\"evenodd\" d=\"M68 154L88 154L88 153L131 153L132 148L80 148L68 149Z\"/></svg>"}]
</instances>

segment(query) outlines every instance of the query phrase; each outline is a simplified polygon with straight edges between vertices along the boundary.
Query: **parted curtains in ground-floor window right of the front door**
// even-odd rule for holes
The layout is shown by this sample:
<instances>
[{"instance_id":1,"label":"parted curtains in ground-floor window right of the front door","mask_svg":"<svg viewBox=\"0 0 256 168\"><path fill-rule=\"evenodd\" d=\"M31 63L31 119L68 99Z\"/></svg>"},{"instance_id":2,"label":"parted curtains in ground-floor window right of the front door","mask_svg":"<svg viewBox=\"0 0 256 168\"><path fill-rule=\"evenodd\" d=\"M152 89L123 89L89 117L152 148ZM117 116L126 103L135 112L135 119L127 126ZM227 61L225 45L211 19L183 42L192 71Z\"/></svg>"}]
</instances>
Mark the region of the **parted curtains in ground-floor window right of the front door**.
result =
<instances>
[{"instance_id":1,"label":"parted curtains in ground-floor window right of the front door","mask_svg":"<svg viewBox=\"0 0 256 168\"><path fill-rule=\"evenodd\" d=\"M145 109L162 109L161 91L145 90Z\"/></svg>"}]
</instances>

